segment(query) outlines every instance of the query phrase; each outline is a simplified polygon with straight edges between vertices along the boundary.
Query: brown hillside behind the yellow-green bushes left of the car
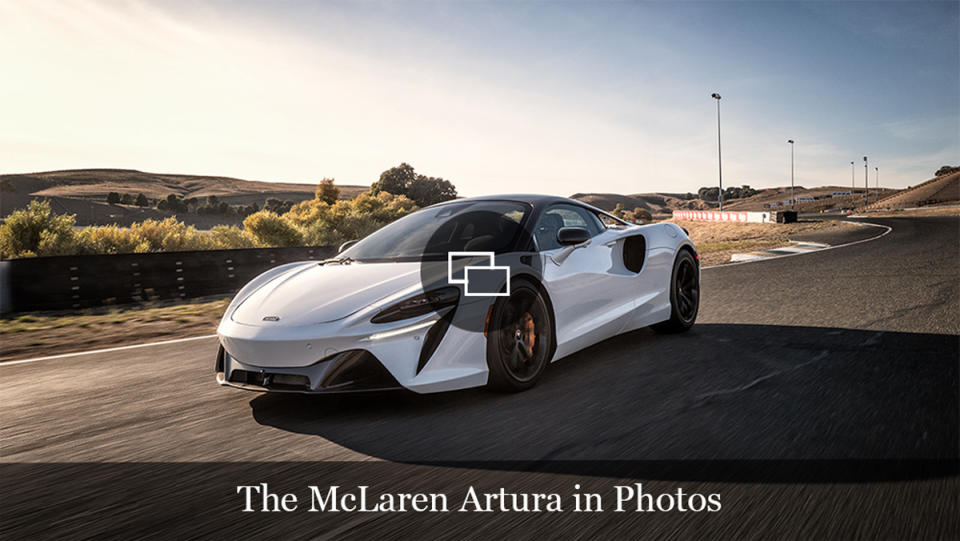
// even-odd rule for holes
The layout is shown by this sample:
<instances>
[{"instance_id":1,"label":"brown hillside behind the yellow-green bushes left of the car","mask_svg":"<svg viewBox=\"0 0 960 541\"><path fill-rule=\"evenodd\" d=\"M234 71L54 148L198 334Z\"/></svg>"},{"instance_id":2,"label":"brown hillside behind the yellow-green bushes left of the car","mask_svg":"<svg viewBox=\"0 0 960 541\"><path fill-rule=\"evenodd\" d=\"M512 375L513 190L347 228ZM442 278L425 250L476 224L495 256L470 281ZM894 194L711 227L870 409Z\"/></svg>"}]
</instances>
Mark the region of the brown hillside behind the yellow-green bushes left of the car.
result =
<instances>
[{"instance_id":1,"label":"brown hillside behind the yellow-green bushes left of the car","mask_svg":"<svg viewBox=\"0 0 960 541\"><path fill-rule=\"evenodd\" d=\"M367 186L338 185L340 197L353 198L369 189ZM312 199L316 184L294 184L241 180L231 177L201 175L172 175L148 173L133 169L73 169L0 175L0 216L7 216L23 208L32 199L46 199L57 212L77 215L78 225L129 225L147 218L162 219L175 213L156 208L132 205L108 205L107 194L136 196L144 194L151 200L165 199L170 194L200 200L214 195L229 205L263 207L269 198L294 202ZM219 223L239 223L239 218L180 214L180 220L201 228Z\"/></svg>"}]
</instances>

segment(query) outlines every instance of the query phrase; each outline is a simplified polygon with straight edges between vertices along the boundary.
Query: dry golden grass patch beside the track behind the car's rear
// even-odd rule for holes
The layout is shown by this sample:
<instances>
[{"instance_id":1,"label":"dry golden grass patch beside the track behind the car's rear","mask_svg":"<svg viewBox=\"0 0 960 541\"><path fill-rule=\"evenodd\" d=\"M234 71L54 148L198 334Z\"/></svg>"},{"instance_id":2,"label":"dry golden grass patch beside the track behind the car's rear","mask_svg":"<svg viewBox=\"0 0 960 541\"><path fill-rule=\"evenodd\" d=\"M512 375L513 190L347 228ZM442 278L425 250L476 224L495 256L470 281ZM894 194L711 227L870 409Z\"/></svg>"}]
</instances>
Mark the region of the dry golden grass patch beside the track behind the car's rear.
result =
<instances>
[{"instance_id":1,"label":"dry golden grass patch beside the track behind the car's rear","mask_svg":"<svg viewBox=\"0 0 960 541\"><path fill-rule=\"evenodd\" d=\"M779 248L790 244L796 235L841 231L857 227L837 220L802 221L795 224L737 224L672 220L690 232L703 265L728 263L736 253Z\"/></svg>"}]
</instances>

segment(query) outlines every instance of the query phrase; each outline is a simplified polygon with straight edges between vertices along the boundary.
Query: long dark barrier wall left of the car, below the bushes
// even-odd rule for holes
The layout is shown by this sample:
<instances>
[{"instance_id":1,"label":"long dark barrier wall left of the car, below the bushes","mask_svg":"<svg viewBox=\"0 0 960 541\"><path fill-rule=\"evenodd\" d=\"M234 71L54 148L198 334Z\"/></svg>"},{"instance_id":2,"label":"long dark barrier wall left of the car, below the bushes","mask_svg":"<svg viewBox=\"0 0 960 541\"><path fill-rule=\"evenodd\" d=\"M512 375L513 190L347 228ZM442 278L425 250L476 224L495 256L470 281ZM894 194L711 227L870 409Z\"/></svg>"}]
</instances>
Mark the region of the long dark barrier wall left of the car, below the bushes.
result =
<instances>
[{"instance_id":1,"label":"long dark barrier wall left of the car, below the bushes","mask_svg":"<svg viewBox=\"0 0 960 541\"><path fill-rule=\"evenodd\" d=\"M0 313L233 293L263 271L332 246L31 257L0 262Z\"/></svg>"}]
</instances>

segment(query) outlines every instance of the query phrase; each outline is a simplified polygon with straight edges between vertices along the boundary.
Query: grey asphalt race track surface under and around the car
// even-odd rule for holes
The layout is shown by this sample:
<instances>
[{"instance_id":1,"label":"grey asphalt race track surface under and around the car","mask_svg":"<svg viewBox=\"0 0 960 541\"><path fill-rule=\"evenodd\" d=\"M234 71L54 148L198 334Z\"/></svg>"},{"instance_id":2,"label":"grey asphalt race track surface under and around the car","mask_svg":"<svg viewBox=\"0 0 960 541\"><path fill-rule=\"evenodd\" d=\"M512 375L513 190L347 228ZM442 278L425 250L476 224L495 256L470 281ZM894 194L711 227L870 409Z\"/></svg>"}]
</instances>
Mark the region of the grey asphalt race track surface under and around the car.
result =
<instances>
[{"instance_id":1,"label":"grey asphalt race track surface under and around the car","mask_svg":"<svg viewBox=\"0 0 960 541\"><path fill-rule=\"evenodd\" d=\"M0 537L960 537L960 221L870 221L892 231L705 269L692 331L608 340L515 395L247 393L214 383L214 339L0 365ZM723 508L241 513L260 482L457 505L640 482Z\"/></svg>"}]
</instances>

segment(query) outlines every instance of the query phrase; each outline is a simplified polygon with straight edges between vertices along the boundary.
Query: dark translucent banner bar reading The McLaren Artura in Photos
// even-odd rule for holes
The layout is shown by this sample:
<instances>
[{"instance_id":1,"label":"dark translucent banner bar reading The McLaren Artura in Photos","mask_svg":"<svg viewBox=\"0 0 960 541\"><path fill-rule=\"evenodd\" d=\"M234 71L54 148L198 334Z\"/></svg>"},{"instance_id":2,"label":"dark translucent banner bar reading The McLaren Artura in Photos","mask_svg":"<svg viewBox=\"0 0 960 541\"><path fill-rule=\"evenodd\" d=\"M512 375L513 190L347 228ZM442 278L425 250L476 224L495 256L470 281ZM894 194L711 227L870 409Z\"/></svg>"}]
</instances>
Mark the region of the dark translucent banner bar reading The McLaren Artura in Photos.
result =
<instances>
[{"instance_id":1,"label":"dark translucent banner bar reading The McLaren Artura in Photos","mask_svg":"<svg viewBox=\"0 0 960 541\"><path fill-rule=\"evenodd\" d=\"M960 537L956 461L0 465L0 537Z\"/></svg>"}]
</instances>

